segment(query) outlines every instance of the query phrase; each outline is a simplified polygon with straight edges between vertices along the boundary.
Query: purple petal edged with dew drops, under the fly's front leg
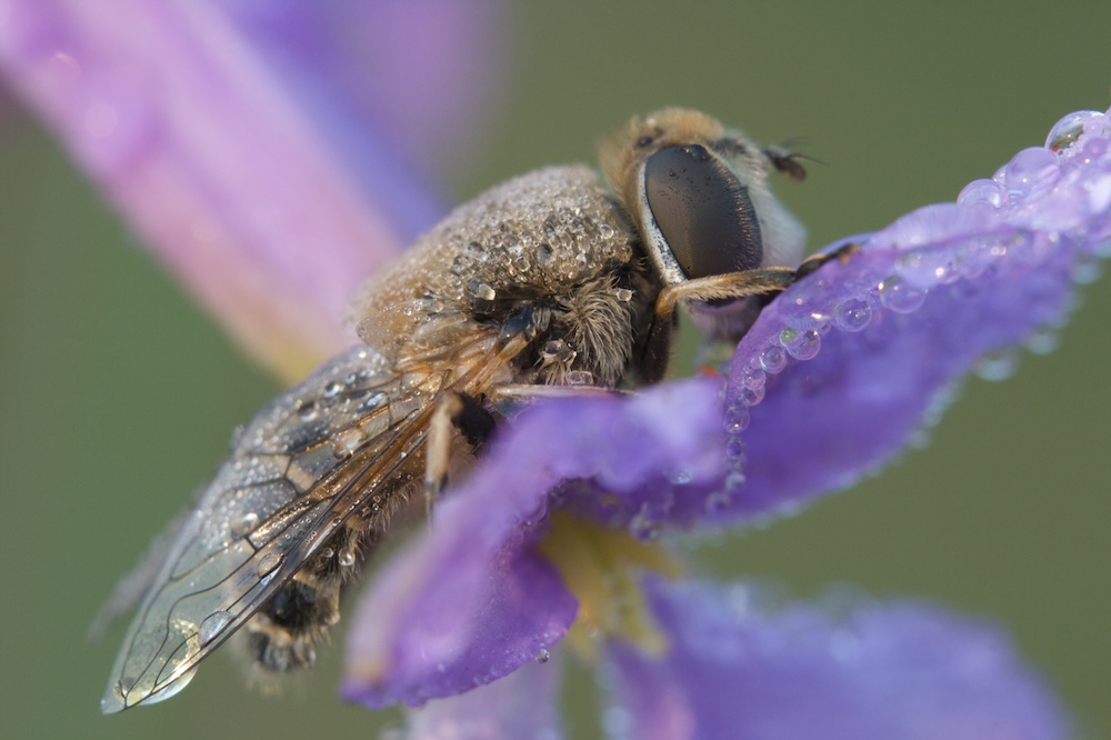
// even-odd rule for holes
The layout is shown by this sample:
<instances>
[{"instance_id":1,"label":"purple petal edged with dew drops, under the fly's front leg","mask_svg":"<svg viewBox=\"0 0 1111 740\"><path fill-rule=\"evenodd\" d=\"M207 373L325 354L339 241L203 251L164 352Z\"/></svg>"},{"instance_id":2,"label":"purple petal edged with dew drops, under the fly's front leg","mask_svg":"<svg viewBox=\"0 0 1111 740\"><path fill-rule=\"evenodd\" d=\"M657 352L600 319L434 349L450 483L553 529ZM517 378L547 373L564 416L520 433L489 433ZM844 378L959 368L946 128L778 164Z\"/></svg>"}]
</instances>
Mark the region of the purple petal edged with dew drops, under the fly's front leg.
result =
<instances>
[{"instance_id":1,"label":"purple petal edged with dew drops, under the fly's front leg","mask_svg":"<svg viewBox=\"0 0 1111 740\"><path fill-rule=\"evenodd\" d=\"M851 486L935 421L970 370L1000 376L1009 348L1044 346L1111 234L1109 127L1084 116L1071 148L1020 152L763 311L730 371L725 423L748 462L723 518Z\"/></svg>"}]
</instances>

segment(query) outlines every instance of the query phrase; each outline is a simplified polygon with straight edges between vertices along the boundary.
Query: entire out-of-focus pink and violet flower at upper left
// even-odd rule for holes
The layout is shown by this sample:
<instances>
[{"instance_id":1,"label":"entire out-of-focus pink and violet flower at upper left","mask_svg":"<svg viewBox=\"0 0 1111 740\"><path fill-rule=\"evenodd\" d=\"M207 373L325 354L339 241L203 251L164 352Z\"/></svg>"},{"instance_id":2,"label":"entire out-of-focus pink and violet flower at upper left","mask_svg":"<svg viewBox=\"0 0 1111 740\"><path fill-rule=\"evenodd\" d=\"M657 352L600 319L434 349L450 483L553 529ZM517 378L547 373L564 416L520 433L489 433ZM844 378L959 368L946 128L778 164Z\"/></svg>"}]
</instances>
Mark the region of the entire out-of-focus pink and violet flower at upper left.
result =
<instances>
[{"instance_id":1,"label":"entire out-of-focus pink and violet flower at upper left","mask_svg":"<svg viewBox=\"0 0 1111 740\"><path fill-rule=\"evenodd\" d=\"M294 380L353 341L354 289L441 216L414 161L457 150L491 94L499 11L3 0L0 69L143 243Z\"/></svg>"}]
</instances>

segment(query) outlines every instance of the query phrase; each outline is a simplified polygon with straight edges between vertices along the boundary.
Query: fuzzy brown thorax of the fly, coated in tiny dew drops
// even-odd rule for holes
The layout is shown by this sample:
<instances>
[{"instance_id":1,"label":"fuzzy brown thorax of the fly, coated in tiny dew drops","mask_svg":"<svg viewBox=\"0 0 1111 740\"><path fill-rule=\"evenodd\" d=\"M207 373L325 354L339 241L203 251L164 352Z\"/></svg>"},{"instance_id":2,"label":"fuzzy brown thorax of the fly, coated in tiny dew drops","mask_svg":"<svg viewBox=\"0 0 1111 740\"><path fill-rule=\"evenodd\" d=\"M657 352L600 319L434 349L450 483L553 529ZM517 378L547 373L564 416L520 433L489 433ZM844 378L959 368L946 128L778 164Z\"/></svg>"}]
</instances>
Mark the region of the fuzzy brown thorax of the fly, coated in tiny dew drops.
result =
<instances>
[{"instance_id":1,"label":"fuzzy brown thorax of the fly, coated in tiny dew drops","mask_svg":"<svg viewBox=\"0 0 1111 740\"><path fill-rule=\"evenodd\" d=\"M359 333L404 357L532 317L538 336L513 382L615 386L660 289L634 233L584 167L510 180L453 211L367 286Z\"/></svg>"}]
</instances>

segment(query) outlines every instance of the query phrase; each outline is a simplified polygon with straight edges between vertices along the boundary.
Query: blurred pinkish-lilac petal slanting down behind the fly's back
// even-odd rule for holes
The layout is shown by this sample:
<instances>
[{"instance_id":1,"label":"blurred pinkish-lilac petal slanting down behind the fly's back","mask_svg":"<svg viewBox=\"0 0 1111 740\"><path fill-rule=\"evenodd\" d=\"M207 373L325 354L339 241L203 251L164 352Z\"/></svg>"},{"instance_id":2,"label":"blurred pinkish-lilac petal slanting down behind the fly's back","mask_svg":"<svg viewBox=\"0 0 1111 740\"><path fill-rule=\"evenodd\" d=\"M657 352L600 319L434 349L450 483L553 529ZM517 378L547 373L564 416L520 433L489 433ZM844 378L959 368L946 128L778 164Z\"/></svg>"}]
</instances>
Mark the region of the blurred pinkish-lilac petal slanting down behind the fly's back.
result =
<instances>
[{"instance_id":1,"label":"blurred pinkish-lilac petal slanting down behind the fly's back","mask_svg":"<svg viewBox=\"0 0 1111 740\"><path fill-rule=\"evenodd\" d=\"M384 32L340 27L341 6L323 10L347 46ZM327 44L310 8L321 6L272 17ZM279 63L280 37L249 16L210 2L12 0L0 64L197 298L297 376L350 343L351 293L439 207L380 132L360 128L366 114L341 98L353 78L323 83L342 54Z\"/></svg>"}]
</instances>

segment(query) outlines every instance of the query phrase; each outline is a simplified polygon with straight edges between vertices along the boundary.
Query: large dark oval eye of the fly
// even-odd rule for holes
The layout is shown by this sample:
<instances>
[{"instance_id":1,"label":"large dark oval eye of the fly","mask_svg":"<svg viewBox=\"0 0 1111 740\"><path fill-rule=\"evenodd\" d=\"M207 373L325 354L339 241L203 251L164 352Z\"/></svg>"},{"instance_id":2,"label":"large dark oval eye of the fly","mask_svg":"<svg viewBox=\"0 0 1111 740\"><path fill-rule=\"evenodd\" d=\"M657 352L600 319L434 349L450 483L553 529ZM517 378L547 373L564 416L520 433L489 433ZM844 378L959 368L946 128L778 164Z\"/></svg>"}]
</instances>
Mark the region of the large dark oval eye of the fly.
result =
<instances>
[{"instance_id":1,"label":"large dark oval eye of the fly","mask_svg":"<svg viewBox=\"0 0 1111 740\"><path fill-rule=\"evenodd\" d=\"M648 206L688 279L754 270L763 261L748 188L704 147L667 147L644 163Z\"/></svg>"}]
</instances>

